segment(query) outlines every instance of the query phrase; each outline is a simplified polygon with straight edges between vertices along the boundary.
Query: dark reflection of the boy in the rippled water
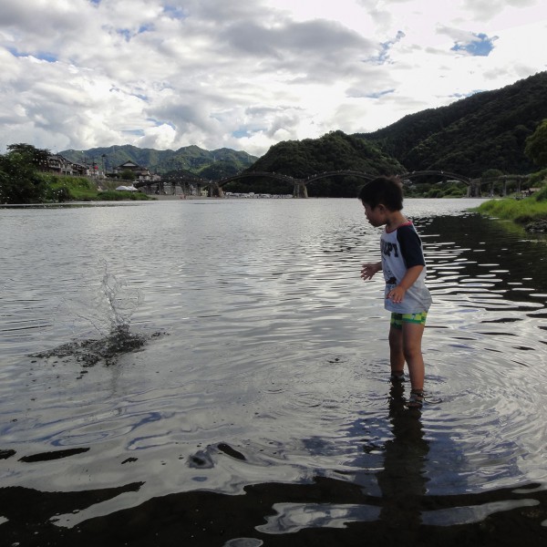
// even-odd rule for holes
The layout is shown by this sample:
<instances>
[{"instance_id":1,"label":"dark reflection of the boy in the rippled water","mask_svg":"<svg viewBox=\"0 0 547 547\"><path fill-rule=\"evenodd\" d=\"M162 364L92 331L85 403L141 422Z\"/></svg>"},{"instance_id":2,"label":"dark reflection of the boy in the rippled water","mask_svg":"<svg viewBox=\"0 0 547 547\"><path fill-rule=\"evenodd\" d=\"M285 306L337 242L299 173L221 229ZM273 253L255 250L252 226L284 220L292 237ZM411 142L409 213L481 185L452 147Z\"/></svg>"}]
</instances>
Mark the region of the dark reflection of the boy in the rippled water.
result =
<instances>
[{"instance_id":1,"label":"dark reflection of the boy in the rippled water","mask_svg":"<svg viewBox=\"0 0 547 547\"><path fill-rule=\"evenodd\" d=\"M380 520L387 528L413 531L421 523L421 501L426 494L425 459L429 451L424 439L420 411L404 406L403 387L390 392L389 418L393 439L386 443L384 469L377 473L382 490Z\"/></svg>"}]
</instances>

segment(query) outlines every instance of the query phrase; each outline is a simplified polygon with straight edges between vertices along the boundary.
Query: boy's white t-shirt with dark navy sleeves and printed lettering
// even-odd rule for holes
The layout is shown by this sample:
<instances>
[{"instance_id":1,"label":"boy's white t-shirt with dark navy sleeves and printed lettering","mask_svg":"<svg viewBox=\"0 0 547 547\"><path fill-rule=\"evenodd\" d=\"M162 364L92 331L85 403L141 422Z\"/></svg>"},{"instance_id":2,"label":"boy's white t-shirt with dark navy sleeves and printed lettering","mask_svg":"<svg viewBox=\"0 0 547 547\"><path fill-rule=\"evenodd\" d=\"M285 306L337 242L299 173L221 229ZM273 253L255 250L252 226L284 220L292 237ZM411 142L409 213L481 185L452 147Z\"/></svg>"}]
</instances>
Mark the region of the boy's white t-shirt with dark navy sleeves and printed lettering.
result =
<instances>
[{"instance_id":1,"label":"boy's white t-shirt with dark navy sleeves and printed lettering","mask_svg":"<svg viewBox=\"0 0 547 547\"><path fill-rule=\"evenodd\" d=\"M431 305L431 294L425 284L426 261L418 232L412 222L401 224L393 232L382 233L380 238L382 271L386 279L386 296L397 286L412 266L424 266L418 279L408 288L399 304L385 299L386 309L396 314L418 314L427 312Z\"/></svg>"}]
</instances>

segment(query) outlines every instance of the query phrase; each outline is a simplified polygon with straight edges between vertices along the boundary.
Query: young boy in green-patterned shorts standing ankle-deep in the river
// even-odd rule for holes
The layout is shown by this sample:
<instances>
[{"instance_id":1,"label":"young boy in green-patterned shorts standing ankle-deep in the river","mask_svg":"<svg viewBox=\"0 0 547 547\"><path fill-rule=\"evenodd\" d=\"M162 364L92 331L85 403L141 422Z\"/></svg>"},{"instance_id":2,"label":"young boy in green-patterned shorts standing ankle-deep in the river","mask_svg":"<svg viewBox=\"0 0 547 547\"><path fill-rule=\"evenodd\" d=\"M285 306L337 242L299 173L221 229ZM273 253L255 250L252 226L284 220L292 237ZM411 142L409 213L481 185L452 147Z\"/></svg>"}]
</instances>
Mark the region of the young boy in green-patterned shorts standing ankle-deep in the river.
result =
<instances>
[{"instance_id":1,"label":"young boy in green-patterned shorts standing ankle-deep in the river","mask_svg":"<svg viewBox=\"0 0 547 547\"><path fill-rule=\"evenodd\" d=\"M385 307L391 312L389 360L391 382L405 379L405 361L410 376L407 406L421 408L424 399L424 359L421 339L431 305L424 280L426 262L421 241L412 222L401 213L403 191L393 178L378 177L359 193L365 206L366 220L373 226L386 226L380 239L382 260L363 264L361 277L366 281L380 270L386 279Z\"/></svg>"}]
</instances>

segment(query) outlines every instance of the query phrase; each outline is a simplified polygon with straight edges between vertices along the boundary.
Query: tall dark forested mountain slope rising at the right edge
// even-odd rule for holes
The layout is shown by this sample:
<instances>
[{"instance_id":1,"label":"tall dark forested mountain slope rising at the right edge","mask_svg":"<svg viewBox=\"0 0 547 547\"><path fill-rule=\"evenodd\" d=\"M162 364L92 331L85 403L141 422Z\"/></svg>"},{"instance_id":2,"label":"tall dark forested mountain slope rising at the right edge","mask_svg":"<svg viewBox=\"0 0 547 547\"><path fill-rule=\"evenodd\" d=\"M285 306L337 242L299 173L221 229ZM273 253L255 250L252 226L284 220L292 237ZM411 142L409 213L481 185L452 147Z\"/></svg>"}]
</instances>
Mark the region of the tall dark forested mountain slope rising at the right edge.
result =
<instances>
[{"instance_id":1,"label":"tall dark forested mountain slope rising at the right edge","mask_svg":"<svg viewBox=\"0 0 547 547\"><path fill-rule=\"evenodd\" d=\"M449 170L468 177L490 169L524 174L537 170L524 155L524 141L543 119L547 72L354 136L376 144L407 170Z\"/></svg>"}]
</instances>

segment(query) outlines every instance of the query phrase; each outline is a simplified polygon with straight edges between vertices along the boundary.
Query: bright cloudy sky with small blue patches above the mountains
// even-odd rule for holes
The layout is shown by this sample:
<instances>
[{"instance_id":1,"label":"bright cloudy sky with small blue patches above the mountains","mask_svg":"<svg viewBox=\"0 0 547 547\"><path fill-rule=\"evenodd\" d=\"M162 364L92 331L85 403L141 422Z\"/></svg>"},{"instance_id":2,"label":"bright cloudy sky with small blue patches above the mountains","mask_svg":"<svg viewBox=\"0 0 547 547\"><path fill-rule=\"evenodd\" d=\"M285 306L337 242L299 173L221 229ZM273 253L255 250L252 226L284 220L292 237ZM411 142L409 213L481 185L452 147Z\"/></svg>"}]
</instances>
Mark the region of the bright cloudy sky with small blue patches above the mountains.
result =
<instances>
[{"instance_id":1,"label":"bright cloudy sky with small blue patches above the mountains","mask_svg":"<svg viewBox=\"0 0 547 547\"><path fill-rule=\"evenodd\" d=\"M262 156L547 70L545 0L2 0L0 153Z\"/></svg>"}]
</instances>

